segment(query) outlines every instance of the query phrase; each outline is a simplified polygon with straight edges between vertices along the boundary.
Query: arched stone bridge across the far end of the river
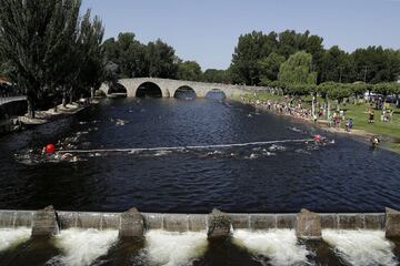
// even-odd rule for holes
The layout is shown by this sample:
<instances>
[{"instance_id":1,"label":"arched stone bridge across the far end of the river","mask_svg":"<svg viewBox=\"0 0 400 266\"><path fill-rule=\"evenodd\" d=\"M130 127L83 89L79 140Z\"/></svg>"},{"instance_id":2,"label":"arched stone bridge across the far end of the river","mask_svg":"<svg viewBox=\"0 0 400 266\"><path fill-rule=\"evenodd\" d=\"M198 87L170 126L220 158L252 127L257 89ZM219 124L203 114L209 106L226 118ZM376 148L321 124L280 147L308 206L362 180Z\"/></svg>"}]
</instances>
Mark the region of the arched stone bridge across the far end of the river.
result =
<instances>
[{"instance_id":1,"label":"arched stone bridge across the far end of the river","mask_svg":"<svg viewBox=\"0 0 400 266\"><path fill-rule=\"evenodd\" d=\"M220 83L204 83L194 81L169 80L158 78L134 78L119 80L119 86L124 89L128 98L143 96L147 91L158 91L158 96L173 98L179 91L192 91L197 98L206 98L209 92L223 92L224 96L232 99L249 92L266 91L263 86L246 86ZM110 94L110 88L103 84L100 88L106 94ZM121 92L121 91L119 91Z\"/></svg>"}]
</instances>

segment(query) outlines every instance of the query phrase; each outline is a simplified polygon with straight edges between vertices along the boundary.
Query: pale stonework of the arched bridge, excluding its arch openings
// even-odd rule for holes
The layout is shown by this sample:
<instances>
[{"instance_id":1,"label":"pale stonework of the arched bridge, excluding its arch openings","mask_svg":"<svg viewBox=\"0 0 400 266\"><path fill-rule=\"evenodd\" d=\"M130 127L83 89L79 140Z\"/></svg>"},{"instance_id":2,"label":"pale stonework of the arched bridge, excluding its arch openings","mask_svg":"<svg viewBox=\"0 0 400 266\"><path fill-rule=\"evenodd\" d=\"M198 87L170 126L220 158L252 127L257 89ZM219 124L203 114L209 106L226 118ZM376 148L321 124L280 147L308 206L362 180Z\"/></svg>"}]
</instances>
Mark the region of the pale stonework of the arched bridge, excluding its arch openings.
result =
<instances>
[{"instance_id":1,"label":"pale stonework of the arched bridge, excluding its arch openings","mask_svg":"<svg viewBox=\"0 0 400 266\"><path fill-rule=\"evenodd\" d=\"M180 80L168 80L168 79L158 79L158 78L137 78L137 79L122 79L119 80L119 83L127 89L127 94L129 98L134 98L138 88L146 83L152 82L157 84L163 98L173 98L176 91L181 86L189 86L193 89L198 98L206 98L207 93L213 89L219 89L223 91L227 98L232 99L238 95L249 93L254 90L269 90L264 86L246 86L246 85L231 85L231 84L220 84L220 83L204 83L204 82L194 82L194 81L180 81ZM108 85L102 84L100 88L106 94L108 94Z\"/></svg>"}]
</instances>

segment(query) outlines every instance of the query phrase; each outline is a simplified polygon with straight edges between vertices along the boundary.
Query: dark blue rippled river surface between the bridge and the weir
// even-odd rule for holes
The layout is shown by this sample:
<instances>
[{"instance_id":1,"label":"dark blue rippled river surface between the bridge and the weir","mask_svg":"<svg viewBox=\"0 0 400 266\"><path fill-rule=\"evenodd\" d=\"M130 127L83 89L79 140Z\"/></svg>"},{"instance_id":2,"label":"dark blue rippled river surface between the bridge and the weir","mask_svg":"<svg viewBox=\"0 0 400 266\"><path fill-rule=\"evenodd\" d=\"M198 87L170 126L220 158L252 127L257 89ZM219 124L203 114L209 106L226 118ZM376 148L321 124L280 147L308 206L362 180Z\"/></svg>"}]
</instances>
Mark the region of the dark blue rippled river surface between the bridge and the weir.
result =
<instances>
[{"instance_id":1,"label":"dark blue rippled river surface between the bridge and the weir","mask_svg":"<svg viewBox=\"0 0 400 266\"><path fill-rule=\"evenodd\" d=\"M257 113L239 103L107 100L76 117L0 139L0 208L36 209L49 204L71 211L136 206L178 213L208 213L213 207L226 212L400 208L400 156L327 133L334 144L93 152L78 155L78 162L39 155L43 145L58 141L63 149L79 150L164 147L309 139L314 133L290 119Z\"/></svg>"}]
</instances>

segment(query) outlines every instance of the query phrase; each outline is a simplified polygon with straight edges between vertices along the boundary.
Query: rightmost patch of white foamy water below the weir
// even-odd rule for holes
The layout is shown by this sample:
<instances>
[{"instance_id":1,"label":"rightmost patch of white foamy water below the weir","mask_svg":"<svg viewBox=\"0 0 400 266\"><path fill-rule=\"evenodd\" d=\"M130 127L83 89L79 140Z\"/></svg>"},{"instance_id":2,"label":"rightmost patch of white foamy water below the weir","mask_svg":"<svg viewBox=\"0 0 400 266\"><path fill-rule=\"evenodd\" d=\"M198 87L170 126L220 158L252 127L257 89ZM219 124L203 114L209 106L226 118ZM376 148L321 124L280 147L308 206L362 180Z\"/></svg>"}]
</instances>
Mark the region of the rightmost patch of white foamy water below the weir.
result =
<instances>
[{"instance_id":1,"label":"rightmost patch of white foamy water below the weir","mask_svg":"<svg viewBox=\"0 0 400 266\"><path fill-rule=\"evenodd\" d=\"M323 239L348 264L354 266L398 265L393 244L381 231L322 231Z\"/></svg>"}]
</instances>

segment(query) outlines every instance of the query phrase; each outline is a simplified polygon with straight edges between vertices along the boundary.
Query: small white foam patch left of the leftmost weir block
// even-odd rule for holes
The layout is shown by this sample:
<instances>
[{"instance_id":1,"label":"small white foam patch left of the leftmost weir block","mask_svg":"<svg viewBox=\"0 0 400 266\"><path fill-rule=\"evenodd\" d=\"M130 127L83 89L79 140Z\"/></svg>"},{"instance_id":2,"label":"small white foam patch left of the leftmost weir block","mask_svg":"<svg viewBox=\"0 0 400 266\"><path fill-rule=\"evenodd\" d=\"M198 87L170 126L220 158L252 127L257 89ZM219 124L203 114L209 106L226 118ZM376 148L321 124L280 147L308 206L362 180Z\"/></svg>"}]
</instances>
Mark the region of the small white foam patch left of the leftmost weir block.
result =
<instances>
[{"instance_id":1,"label":"small white foam patch left of the leftmost weir block","mask_svg":"<svg viewBox=\"0 0 400 266\"><path fill-rule=\"evenodd\" d=\"M31 236L31 228L1 228L0 229L0 252L14 247L28 241Z\"/></svg>"}]
</instances>

